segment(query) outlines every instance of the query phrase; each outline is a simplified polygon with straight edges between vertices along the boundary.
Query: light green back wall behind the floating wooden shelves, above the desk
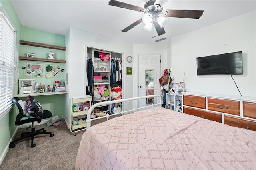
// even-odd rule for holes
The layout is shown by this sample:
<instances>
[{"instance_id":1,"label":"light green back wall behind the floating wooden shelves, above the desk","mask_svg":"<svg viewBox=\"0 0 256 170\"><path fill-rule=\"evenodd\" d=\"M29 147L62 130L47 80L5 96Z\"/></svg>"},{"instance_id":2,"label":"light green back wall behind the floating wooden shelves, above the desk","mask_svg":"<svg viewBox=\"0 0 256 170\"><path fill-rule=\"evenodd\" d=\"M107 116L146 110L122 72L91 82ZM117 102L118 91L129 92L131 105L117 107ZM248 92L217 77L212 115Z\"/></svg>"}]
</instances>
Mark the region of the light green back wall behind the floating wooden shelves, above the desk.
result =
<instances>
[{"instance_id":1,"label":"light green back wall behind the floating wooden shelves, above the desk","mask_svg":"<svg viewBox=\"0 0 256 170\"><path fill-rule=\"evenodd\" d=\"M30 41L30 42L37 42L37 43L45 43L49 45L57 45L57 46L65 46L65 36L60 34L54 34L42 30L36 30L34 28L29 28L22 26L21 30L21 38L20 40ZM33 47L29 45L20 45L20 52L19 55L26 57L28 52L35 53L36 58L43 58L48 59L48 52L52 51L54 53L54 59L65 60L65 51L57 50L57 49L48 49L42 47ZM30 69L27 69L27 65L30 65ZM41 65L43 66L43 73L40 77L37 77L36 72L32 73L32 77L26 77L26 71L31 71L31 65ZM66 73L60 72L58 76L46 78L45 74L47 73L45 67L50 65L54 68L60 67L60 69L64 69L65 64L63 63L51 63L51 62L40 62L40 61L26 61L20 60L19 62L19 73L20 79L35 79L38 84L47 84L47 85L54 85L54 81L64 81ZM21 67L26 67L26 69L21 69ZM56 68L57 69L57 68Z\"/></svg>"}]
</instances>

